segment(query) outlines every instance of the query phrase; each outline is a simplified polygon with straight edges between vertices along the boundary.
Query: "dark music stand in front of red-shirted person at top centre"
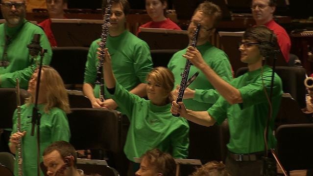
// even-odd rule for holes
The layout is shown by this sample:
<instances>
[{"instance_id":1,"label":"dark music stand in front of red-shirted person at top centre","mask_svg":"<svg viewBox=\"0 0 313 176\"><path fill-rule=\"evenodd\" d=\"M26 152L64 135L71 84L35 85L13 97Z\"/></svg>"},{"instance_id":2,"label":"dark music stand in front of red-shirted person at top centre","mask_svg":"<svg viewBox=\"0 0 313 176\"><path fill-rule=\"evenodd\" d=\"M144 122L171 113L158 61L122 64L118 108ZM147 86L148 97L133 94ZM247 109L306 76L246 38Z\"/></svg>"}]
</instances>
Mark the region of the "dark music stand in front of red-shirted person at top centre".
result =
<instances>
[{"instance_id":1,"label":"dark music stand in front of red-shirted person at top centre","mask_svg":"<svg viewBox=\"0 0 313 176\"><path fill-rule=\"evenodd\" d=\"M184 49L189 44L188 31L156 28L140 28L138 37L150 49Z\"/></svg>"}]
</instances>

